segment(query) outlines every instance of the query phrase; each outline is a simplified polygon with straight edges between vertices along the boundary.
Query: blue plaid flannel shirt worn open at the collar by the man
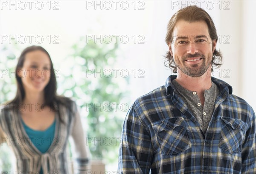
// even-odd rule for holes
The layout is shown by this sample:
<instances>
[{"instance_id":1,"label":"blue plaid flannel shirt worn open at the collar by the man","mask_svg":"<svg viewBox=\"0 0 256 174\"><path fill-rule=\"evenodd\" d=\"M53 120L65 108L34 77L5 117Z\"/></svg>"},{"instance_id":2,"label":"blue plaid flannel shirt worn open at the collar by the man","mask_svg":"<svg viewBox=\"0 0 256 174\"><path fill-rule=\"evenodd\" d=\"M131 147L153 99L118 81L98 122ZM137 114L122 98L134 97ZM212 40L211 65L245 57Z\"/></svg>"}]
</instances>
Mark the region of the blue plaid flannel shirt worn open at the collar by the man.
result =
<instances>
[{"instance_id":1,"label":"blue plaid flannel shirt worn open at the collar by the man","mask_svg":"<svg viewBox=\"0 0 256 174\"><path fill-rule=\"evenodd\" d=\"M256 117L232 87L220 89L206 134L166 85L138 98L125 118L119 148L122 174L256 174Z\"/></svg>"}]
</instances>

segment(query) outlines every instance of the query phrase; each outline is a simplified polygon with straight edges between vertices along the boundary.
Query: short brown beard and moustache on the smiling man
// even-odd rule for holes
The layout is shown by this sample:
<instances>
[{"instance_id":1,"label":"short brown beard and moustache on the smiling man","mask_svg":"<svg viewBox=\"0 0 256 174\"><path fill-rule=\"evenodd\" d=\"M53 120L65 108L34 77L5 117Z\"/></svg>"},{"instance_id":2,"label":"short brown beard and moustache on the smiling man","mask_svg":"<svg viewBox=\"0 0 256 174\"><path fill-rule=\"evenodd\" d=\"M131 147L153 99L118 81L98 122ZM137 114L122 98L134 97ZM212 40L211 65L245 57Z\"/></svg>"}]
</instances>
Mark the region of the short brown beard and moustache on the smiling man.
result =
<instances>
[{"instance_id":1,"label":"short brown beard and moustache on the smiling man","mask_svg":"<svg viewBox=\"0 0 256 174\"><path fill-rule=\"evenodd\" d=\"M182 71L184 74L186 74L188 76L191 76L191 77L200 77L200 76L202 76L207 71L209 66L211 65L211 61L209 61L209 63L206 64L205 63L205 61L206 61L205 56L203 54L199 54L199 53L188 54L187 56L182 57L182 61L185 61L187 58L191 58L191 57L201 57L201 58L203 58L202 59L203 62L201 63L201 66L199 67L198 64L191 65L192 67L195 67L195 68L190 68L188 66L180 67L179 65L176 65L176 66L180 69L180 71Z\"/></svg>"}]
</instances>

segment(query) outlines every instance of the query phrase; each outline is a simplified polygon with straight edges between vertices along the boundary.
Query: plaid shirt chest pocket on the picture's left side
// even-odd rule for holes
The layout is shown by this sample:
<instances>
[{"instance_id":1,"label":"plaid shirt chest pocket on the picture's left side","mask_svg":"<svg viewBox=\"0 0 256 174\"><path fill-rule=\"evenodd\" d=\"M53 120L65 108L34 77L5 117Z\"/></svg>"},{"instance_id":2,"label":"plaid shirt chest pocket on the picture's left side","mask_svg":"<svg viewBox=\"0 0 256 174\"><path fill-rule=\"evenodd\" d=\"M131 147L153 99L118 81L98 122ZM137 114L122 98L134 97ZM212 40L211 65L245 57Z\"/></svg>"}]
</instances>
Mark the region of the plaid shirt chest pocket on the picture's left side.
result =
<instances>
[{"instance_id":1,"label":"plaid shirt chest pocket on the picture's left side","mask_svg":"<svg viewBox=\"0 0 256 174\"><path fill-rule=\"evenodd\" d=\"M157 143L163 155L177 156L191 148L183 117L169 118L154 124Z\"/></svg>"}]
</instances>

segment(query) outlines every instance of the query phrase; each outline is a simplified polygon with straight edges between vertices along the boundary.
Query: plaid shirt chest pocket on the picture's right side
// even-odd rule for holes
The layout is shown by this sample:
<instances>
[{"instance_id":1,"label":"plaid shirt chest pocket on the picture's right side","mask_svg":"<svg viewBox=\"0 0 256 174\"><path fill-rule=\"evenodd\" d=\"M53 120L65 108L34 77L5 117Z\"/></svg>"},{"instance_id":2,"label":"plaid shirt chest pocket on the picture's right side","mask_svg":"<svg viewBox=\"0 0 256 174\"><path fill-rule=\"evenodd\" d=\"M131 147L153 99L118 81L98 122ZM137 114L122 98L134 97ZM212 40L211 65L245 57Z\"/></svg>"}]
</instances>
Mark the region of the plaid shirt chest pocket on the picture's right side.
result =
<instances>
[{"instance_id":1,"label":"plaid shirt chest pocket on the picture's right side","mask_svg":"<svg viewBox=\"0 0 256 174\"><path fill-rule=\"evenodd\" d=\"M245 124L242 120L221 117L221 138L219 148L230 154L241 153Z\"/></svg>"}]
</instances>

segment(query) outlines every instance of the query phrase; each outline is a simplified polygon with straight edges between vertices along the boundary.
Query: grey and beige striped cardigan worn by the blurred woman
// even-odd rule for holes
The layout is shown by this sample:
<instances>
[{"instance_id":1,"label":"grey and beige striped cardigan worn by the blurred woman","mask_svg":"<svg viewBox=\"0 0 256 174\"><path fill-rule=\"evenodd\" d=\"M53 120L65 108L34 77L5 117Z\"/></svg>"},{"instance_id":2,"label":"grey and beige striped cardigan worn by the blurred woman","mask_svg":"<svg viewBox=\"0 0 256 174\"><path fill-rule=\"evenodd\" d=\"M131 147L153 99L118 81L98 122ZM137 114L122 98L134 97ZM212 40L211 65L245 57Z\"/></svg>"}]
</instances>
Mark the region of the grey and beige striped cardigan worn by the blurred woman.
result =
<instances>
[{"instance_id":1,"label":"grey and beige striped cardigan worn by the blurred woman","mask_svg":"<svg viewBox=\"0 0 256 174\"><path fill-rule=\"evenodd\" d=\"M6 105L9 106L9 105ZM17 173L70 174L67 158L68 137L71 135L75 151L74 173L82 174L88 170L88 155L83 128L76 103L72 101L73 114L70 109L59 106L62 123L55 113L55 136L48 151L42 154L31 142L21 122L20 112L10 107L1 108L0 128L5 133L8 145L14 150L17 161Z\"/></svg>"}]
</instances>

